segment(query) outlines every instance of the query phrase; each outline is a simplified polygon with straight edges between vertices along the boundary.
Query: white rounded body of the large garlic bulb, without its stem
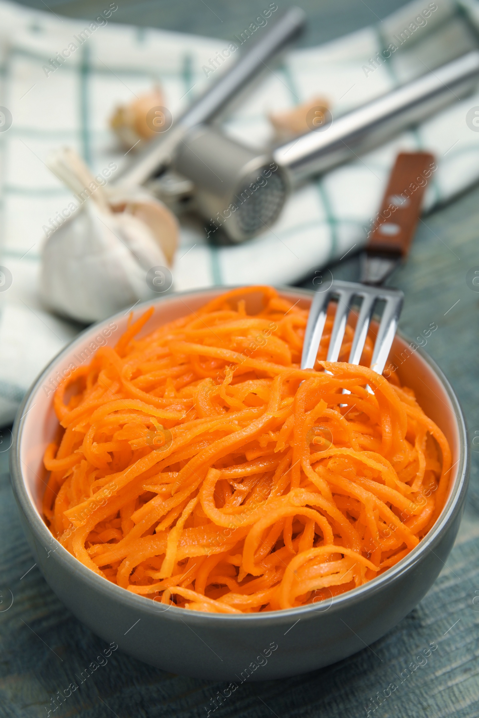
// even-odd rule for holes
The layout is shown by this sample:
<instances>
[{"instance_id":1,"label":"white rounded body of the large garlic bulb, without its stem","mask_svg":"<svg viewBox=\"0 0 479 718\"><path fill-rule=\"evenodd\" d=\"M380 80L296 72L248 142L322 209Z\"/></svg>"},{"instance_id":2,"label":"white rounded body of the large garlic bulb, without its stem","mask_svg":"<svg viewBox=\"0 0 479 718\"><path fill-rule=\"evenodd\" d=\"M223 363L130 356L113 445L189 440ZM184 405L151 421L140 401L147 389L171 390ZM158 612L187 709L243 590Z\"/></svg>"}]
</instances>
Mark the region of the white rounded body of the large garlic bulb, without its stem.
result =
<instances>
[{"instance_id":1,"label":"white rounded body of the large garlic bulb, without its stem","mask_svg":"<svg viewBox=\"0 0 479 718\"><path fill-rule=\"evenodd\" d=\"M48 238L40 293L55 312L96 322L155 296L147 271L166 265L144 222L128 213L103 213L87 202Z\"/></svg>"}]
</instances>

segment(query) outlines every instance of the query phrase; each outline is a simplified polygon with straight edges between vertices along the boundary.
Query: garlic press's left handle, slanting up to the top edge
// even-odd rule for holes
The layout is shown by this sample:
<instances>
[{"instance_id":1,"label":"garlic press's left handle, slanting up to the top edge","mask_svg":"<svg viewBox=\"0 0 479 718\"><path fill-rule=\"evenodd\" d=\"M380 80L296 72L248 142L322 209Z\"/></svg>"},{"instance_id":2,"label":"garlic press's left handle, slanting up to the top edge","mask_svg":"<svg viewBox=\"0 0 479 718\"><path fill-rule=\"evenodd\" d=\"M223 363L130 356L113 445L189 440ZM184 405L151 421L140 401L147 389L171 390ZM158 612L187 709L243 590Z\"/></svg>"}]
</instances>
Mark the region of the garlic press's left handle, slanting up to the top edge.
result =
<instances>
[{"instance_id":1,"label":"garlic press's left handle, slanting up to the top edge","mask_svg":"<svg viewBox=\"0 0 479 718\"><path fill-rule=\"evenodd\" d=\"M297 37L305 22L306 16L299 7L287 11L269 32L264 32L259 41L241 55L231 70L187 108L169 131L148 144L118 177L116 184L143 185L151 177L161 174L171 164L177 147L187 133L195 126L213 121L264 70L266 62Z\"/></svg>"}]
</instances>

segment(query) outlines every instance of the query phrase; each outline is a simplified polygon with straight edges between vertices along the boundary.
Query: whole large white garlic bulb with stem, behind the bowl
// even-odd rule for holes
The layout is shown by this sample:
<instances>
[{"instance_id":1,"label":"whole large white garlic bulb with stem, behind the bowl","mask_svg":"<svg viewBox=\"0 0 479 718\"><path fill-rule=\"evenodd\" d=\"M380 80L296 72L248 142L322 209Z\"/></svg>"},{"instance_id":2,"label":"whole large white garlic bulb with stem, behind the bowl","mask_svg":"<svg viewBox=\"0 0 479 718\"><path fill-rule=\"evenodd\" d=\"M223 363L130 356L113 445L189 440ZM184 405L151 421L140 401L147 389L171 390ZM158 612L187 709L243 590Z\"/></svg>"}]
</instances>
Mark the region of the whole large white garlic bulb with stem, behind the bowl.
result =
<instances>
[{"instance_id":1,"label":"whole large white garlic bulb with stem, behind the bowl","mask_svg":"<svg viewBox=\"0 0 479 718\"><path fill-rule=\"evenodd\" d=\"M73 192L92 186L93 177L73 150L63 149L48 162ZM42 299L55 312L89 323L157 297L147 272L162 267L168 274L177 233L174 215L143 188L119 194L98 186L47 238Z\"/></svg>"}]
</instances>

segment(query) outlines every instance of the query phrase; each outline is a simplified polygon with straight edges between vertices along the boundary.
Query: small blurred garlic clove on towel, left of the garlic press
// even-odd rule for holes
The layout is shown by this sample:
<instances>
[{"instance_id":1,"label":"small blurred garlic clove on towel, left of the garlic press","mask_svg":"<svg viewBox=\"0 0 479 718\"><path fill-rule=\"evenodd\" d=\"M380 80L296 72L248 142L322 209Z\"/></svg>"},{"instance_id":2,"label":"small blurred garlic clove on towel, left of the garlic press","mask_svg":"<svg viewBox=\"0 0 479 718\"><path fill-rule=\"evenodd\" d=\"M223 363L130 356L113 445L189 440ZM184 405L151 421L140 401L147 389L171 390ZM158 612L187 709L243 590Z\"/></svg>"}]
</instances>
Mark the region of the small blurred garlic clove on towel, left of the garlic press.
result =
<instances>
[{"instance_id":1,"label":"small blurred garlic clove on towel, left of the garlic press","mask_svg":"<svg viewBox=\"0 0 479 718\"><path fill-rule=\"evenodd\" d=\"M140 95L129 105L120 105L116 108L110 119L110 126L126 149L138 144L140 139L149 140L156 135L154 129L147 123L147 113L153 107L163 105L162 90L156 86L151 92Z\"/></svg>"}]
</instances>

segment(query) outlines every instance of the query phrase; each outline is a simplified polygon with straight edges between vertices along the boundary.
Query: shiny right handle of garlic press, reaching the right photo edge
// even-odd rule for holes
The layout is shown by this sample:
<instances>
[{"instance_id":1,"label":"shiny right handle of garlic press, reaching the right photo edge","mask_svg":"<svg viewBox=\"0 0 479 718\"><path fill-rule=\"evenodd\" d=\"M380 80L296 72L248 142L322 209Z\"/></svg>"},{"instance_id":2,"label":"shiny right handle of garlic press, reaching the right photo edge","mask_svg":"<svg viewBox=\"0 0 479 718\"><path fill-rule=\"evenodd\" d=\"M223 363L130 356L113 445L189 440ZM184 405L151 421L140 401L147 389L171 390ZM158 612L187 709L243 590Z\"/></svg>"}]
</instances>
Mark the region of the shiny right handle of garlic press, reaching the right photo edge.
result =
<instances>
[{"instance_id":1,"label":"shiny right handle of garlic press, reaching the right photo edge","mask_svg":"<svg viewBox=\"0 0 479 718\"><path fill-rule=\"evenodd\" d=\"M447 62L434 72L278 147L274 161L292 185L377 147L406 127L439 111L473 88L479 51Z\"/></svg>"}]
</instances>

